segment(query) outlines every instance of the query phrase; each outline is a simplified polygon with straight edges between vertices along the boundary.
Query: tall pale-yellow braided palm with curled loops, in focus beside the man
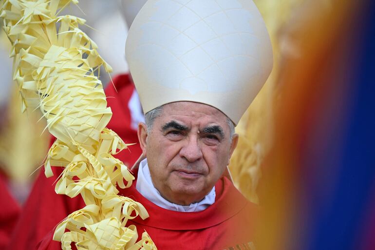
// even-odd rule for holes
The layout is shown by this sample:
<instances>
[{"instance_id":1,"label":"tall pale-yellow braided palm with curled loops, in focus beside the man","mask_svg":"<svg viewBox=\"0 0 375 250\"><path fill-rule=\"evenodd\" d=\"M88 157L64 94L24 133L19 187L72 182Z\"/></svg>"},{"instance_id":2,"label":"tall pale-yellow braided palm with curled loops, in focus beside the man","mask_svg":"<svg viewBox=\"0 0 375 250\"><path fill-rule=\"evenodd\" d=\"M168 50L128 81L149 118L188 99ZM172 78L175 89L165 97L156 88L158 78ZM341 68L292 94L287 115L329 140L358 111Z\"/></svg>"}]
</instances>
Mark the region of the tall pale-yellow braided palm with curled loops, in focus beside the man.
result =
<instances>
[{"instance_id":1,"label":"tall pale-yellow braided palm with curled loops, in focus beside the man","mask_svg":"<svg viewBox=\"0 0 375 250\"><path fill-rule=\"evenodd\" d=\"M112 155L129 145L106 128L112 112L94 72L111 67L95 43L79 29L84 19L58 16L77 0L0 0L3 29L12 43L13 79L22 111L40 108L49 132L57 139L49 150L45 174L63 167L56 192L82 195L86 207L70 214L56 228L54 240L70 250L153 250L146 232L125 227L131 215L149 216L138 202L117 195L134 177ZM57 27L58 33L57 33ZM125 179L125 183L124 183Z\"/></svg>"}]
</instances>

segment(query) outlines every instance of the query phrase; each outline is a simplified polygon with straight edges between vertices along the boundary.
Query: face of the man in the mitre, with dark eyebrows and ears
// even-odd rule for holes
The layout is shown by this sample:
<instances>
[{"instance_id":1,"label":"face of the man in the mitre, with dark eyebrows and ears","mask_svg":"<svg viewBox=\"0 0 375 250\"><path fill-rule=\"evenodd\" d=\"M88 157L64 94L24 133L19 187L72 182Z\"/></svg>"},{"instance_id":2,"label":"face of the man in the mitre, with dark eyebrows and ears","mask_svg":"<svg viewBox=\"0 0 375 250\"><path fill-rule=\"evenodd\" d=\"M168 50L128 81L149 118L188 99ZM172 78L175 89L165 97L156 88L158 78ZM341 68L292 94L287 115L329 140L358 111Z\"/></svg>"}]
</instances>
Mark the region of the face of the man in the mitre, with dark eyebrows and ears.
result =
<instances>
[{"instance_id":1,"label":"face of the man in the mitre, with dark eyebrows and ears","mask_svg":"<svg viewBox=\"0 0 375 250\"><path fill-rule=\"evenodd\" d=\"M163 106L147 134L138 136L156 189L170 202L198 202L222 176L238 140L230 139L226 116L211 106L174 102Z\"/></svg>"}]
</instances>

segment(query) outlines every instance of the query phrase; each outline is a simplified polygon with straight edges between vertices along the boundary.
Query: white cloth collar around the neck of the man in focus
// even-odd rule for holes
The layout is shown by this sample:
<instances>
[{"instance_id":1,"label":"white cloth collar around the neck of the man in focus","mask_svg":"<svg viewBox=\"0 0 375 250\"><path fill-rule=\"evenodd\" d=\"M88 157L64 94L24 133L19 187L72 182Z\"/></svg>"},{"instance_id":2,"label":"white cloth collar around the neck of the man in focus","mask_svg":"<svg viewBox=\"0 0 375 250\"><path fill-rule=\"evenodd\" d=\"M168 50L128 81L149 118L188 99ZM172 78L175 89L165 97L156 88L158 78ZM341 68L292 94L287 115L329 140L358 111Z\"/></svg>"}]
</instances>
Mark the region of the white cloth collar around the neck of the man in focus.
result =
<instances>
[{"instance_id":1,"label":"white cloth collar around the neck of the man in focus","mask_svg":"<svg viewBox=\"0 0 375 250\"><path fill-rule=\"evenodd\" d=\"M183 206L169 202L164 199L160 192L154 187L149 165L147 159L144 159L139 164L136 190L140 192L145 198L154 203L155 205L164 209L178 211L178 212L199 212L203 211L215 202L215 187L205 196L203 200L190 205Z\"/></svg>"}]
</instances>

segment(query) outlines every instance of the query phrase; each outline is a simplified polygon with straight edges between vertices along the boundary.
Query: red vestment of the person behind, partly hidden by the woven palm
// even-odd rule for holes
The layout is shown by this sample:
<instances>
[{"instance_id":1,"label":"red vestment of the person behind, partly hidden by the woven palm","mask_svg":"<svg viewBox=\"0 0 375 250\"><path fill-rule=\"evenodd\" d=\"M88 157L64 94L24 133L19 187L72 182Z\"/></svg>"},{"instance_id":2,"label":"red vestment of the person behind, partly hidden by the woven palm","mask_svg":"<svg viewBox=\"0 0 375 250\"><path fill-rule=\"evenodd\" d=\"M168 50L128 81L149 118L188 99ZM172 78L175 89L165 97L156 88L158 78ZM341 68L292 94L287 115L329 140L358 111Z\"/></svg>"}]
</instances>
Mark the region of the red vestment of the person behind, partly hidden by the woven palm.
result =
<instances>
[{"instance_id":1,"label":"red vestment of the person behind, partly hidden by the woven palm","mask_svg":"<svg viewBox=\"0 0 375 250\"><path fill-rule=\"evenodd\" d=\"M135 91L134 85L129 75L117 76L113 79L113 83L115 88L110 82L105 90L108 106L113 113L108 128L116 132L125 143L138 143L137 132L131 127L132 117L128 108ZM129 150L123 150L116 157L131 167L141 152L139 144L136 144L130 146ZM62 169L53 167L52 170L54 176L51 178L46 178L44 171L40 171L21 212L9 250L35 249L38 242L60 221L85 206L80 196L70 198L67 195L56 194L56 178Z\"/></svg>"}]
</instances>

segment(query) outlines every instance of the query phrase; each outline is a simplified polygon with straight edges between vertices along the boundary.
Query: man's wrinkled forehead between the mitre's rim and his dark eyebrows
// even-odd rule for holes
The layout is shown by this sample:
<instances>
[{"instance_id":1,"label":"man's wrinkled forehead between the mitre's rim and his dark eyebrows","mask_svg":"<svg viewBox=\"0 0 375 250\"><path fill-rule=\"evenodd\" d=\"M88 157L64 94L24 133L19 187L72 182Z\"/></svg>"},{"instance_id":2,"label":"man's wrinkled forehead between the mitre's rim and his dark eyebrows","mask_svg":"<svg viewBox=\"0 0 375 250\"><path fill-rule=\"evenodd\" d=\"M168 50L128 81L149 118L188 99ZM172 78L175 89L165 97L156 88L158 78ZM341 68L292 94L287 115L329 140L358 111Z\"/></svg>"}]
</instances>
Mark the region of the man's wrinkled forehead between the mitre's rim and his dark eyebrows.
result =
<instances>
[{"instance_id":1,"label":"man's wrinkled forehead between the mitre's rim and his dark eyebrows","mask_svg":"<svg viewBox=\"0 0 375 250\"><path fill-rule=\"evenodd\" d=\"M208 124L222 125L227 123L227 116L220 110L207 104L191 101L171 102L162 106L160 122L169 122L176 120L184 125Z\"/></svg>"}]
</instances>

